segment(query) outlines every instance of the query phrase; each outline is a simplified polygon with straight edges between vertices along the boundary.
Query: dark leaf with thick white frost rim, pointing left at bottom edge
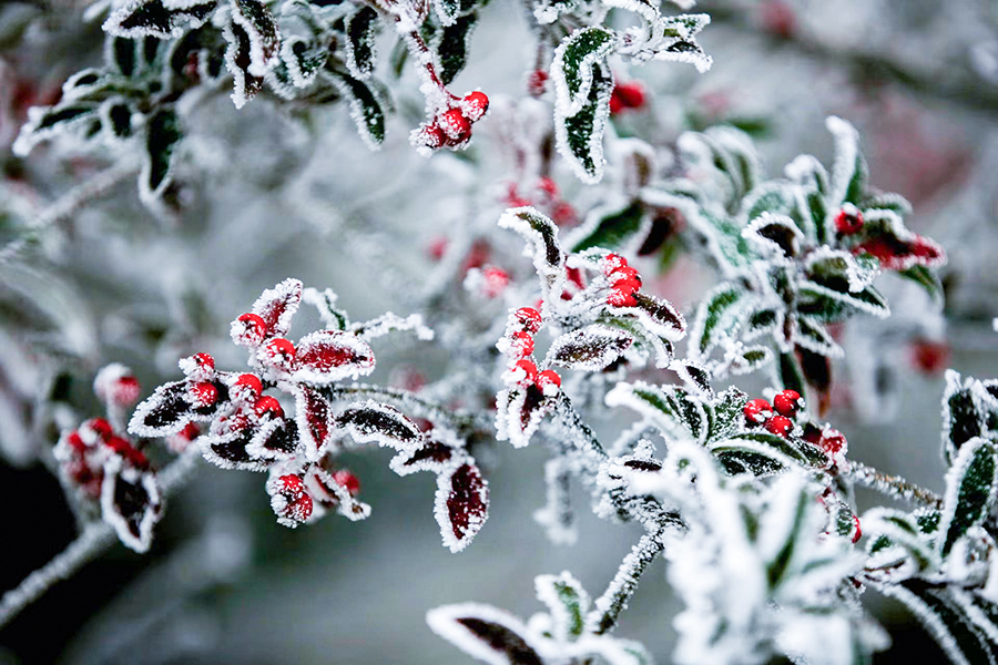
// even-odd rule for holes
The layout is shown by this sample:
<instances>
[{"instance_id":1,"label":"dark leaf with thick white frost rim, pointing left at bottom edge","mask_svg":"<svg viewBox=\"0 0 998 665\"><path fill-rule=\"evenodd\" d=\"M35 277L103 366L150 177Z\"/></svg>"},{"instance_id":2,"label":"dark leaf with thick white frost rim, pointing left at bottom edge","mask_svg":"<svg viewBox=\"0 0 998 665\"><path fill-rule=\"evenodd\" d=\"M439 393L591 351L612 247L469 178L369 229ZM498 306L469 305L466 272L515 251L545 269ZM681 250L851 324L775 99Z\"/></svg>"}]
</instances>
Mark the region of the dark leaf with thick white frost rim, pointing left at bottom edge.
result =
<instances>
[{"instance_id":1,"label":"dark leaf with thick white frost rim, pointing left at bottom edge","mask_svg":"<svg viewBox=\"0 0 998 665\"><path fill-rule=\"evenodd\" d=\"M478 603L444 605L426 613L437 635L489 665L543 665L541 637L502 610Z\"/></svg>"}]
</instances>

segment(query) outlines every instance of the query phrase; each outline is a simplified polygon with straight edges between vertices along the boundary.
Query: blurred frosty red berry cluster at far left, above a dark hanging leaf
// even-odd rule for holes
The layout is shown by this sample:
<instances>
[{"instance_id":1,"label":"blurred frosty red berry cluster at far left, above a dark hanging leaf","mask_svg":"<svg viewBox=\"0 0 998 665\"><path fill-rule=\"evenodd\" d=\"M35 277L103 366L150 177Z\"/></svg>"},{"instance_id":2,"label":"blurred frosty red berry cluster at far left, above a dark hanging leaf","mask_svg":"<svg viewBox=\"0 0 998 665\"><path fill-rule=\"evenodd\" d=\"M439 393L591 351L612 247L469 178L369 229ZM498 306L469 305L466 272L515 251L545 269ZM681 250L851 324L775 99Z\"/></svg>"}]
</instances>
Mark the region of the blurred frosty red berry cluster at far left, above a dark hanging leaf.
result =
<instances>
[{"instance_id":1,"label":"blurred frosty red berry cluster at far left, above a dark hanging leaf","mask_svg":"<svg viewBox=\"0 0 998 665\"><path fill-rule=\"evenodd\" d=\"M104 463L111 456L122 458L132 468L149 469L149 458L131 441L116 434L103 418L91 418L78 429L64 432L53 453L63 477L92 499L101 495Z\"/></svg>"}]
</instances>

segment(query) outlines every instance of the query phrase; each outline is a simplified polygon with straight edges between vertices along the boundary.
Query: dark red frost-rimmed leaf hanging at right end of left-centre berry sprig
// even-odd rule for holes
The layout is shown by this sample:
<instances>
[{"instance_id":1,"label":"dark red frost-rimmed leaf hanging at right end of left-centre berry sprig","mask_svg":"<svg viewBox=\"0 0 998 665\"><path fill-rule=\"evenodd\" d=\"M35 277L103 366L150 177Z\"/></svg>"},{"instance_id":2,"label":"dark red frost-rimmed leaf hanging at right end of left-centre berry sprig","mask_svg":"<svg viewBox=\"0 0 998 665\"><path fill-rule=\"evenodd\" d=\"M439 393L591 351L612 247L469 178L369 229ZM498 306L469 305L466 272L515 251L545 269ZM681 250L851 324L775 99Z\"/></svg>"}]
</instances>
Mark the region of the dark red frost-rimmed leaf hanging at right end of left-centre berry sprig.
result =
<instances>
[{"instance_id":1,"label":"dark red frost-rimmed leaf hanging at right end of left-centre berry sprig","mask_svg":"<svg viewBox=\"0 0 998 665\"><path fill-rule=\"evenodd\" d=\"M434 516L451 552L471 543L489 516L489 483L478 467L466 461L437 474Z\"/></svg>"}]
</instances>

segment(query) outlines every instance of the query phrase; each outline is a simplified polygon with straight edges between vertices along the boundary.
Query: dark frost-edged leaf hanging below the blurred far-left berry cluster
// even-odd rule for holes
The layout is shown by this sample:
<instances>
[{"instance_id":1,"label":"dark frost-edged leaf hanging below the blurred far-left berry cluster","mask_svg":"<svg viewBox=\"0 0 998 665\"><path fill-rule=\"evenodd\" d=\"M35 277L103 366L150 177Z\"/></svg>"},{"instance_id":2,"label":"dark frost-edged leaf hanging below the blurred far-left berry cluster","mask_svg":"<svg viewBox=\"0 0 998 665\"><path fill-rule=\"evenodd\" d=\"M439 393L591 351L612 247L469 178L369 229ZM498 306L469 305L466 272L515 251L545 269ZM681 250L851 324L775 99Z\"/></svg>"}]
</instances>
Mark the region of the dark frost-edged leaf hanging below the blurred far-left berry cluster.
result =
<instances>
[{"instance_id":1,"label":"dark frost-edged leaf hanging below the blurred far-left berry cluster","mask_svg":"<svg viewBox=\"0 0 998 665\"><path fill-rule=\"evenodd\" d=\"M147 552L162 508L152 471L138 469L119 454L108 458L101 483L101 516L114 528L121 542L135 552Z\"/></svg>"}]
</instances>

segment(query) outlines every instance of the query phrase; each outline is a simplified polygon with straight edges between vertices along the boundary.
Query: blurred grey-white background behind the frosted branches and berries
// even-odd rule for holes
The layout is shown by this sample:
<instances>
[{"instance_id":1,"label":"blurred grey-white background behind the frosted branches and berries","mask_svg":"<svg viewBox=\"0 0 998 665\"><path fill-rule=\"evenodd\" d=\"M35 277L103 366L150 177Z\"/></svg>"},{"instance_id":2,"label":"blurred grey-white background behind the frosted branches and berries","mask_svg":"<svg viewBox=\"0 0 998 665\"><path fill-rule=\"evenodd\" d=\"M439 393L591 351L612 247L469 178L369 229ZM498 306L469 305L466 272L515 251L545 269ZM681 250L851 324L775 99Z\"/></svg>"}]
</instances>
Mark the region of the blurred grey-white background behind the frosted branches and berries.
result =
<instances>
[{"instance_id":1,"label":"blurred grey-white background behind the frosted branches and berries","mask_svg":"<svg viewBox=\"0 0 998 665\"><path fill-rule=\"evenodd\" d=\"M84 9L71 0L0 4L4 245L126 157L57 145L28 158L10 152L29 106L52 103L68 75L100 63L100 21L84 22ZM828 419L856 459L938 491L944 368L998 377L998 4L715 0L697 10L713 17L701 39L713 69L618 71L653 94L614 131L668 142L731 122L756 137L775 175L800 153L831 161L826 115L857 125L873 183L912 201L909 227L946 247L947 299L940 316L917 289L882 278L895 317L845 330L849 360L836 368ZM496 0L451 89L480 86L493 102L522 96L530 44L522 9ZM287 276L334 288L355 320L410 314L431 275L434 242L482 217L495 224L501 207L481 201L506 165L493 158L491 119L469 153L419 157L408 144L422 111L417 86L406 72L393 88L399 113L376 153L342 109L308 124L265 100L236 111L226 94L208 96L190 116L182 212L150 213L134 180L120 178L13 258L3 255L0 587L14 587L74 535L59 483L38 459L58 438L55 423L100 415L91 381L104 364L132 367L144 395L177 378L176 359L194 351L238 369L244 357L228 321ZM584 212L591 193L567 171L556 180ZM656 288L689 310L710 277L681 259ZM483 307L482 316L505 311ZM303 329L310 328L293 335ZM421 344L376 342L371 380L397 380L398 366L439 379L445 358ZM599 423L608 433L620 427ZM541 610L533 576L566 569L598 594L640 536L637 526L599 521L579 495L579 543L550 544L531 519L544 501L546 451L498 444L486 460L489 522L468 550L450 554L432 519L432 479L398 478L388 458L347 460L374 509L368 520L328 516L294 531L275 522L263 475L201 464L171 499L150 554L115 545L53 587L0 631L0 663L462 663L427 628L428 608L479 601L527 617ZM897 643L878 663L913 653L941 662L899 606L874 596L869 606ZM655 563L618 632L668 663L675 611Z\"/></svg>"}]
</instances>

